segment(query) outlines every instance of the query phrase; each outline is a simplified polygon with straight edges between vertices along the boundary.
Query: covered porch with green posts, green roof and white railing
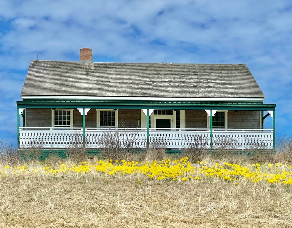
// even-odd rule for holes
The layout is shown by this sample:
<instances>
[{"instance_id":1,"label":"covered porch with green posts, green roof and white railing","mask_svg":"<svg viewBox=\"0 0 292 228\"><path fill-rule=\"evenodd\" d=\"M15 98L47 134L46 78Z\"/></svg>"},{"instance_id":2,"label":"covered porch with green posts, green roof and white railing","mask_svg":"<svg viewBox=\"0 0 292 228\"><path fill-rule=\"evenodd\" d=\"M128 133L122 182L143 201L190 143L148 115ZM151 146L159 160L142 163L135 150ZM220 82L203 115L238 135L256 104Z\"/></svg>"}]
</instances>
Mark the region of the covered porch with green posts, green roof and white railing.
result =
<instances>
[{"instance_id":1,"label":"covered porch with green posts, green roof and white railing","mask_svg":"<svg viewBox=\"0 0 292 228\"><path fill-rule=\"evenodd\" d=\"M52 101L52 100L25 100L17 102L18 107L18 148L30 148L35 142L41 142L44 148L61 149L68 148L72 140L81 139L84 147L88 149L102 149L102 139L106 136L115 136L121 143L126 145L131 141L132 148L146 149L151 143L159 141L166 148L181 150L190 145L206 149L269 149L275 150L275 104L263 104L261 102L204 102L204 101L117 101L117 100L95 100L95 101ZM26 109L52 109L54 110L78 110L82 121L78 124L68 124L66 127L55 126L53 117L48 121L48 126L20 126L20 115L26 116ZM140 109L140 125L137 127L112 126L87 127L87 113L92 110L108 110L113 113L119 109ZM158 111L172 110L173 117L166 114L159 116ZM206 115L205 128L193 128L187 124L182 115L190 110L204 112ZM220 125L220 118L216 113L240 111L257 111L260 115L258 125L255 128L228 128ZM264 115L264 111L267 114ZM98 111L99 112L99 111ZM97 113L98 113L97 112ZM156 113L156 114L154 114ZM168 112L169 114L170 112ZM177 115L181 113L181 115ZM217 113L217 114L218 114ZM222 114L223 115L223 114ZM267 116L273 118L273 129L263 129L263 121ZM52 114L53 116L53 114ZM165 117L166 116L166 117ZM176 117L179 116L179 117ZM104 117L104 116L102 116ZM88 117L89 118L89 117ZM101 116L95 116L97 124L103 121ZM118 116L114 116L118 121ZM216 119L215 124L213 118ZM223 117L221 117L222 119ZM77 118L75 118L76 120ZM225 117L227 119L227 116ZM81 120L81 118L80 118ZM155 120L155 121L154 121ZM77 120L76 120L77 121ZM227 121L227 120L226 120ZM26 122L26 121L25 121ZM224 121L223 121L224 122ZM209 123L209 124L208 124ZM81 125L82 124L82 125ZM222 125L224 123L221 123ZM80 126L81 125L81 126Z\"/></svg>"}]
</instances>

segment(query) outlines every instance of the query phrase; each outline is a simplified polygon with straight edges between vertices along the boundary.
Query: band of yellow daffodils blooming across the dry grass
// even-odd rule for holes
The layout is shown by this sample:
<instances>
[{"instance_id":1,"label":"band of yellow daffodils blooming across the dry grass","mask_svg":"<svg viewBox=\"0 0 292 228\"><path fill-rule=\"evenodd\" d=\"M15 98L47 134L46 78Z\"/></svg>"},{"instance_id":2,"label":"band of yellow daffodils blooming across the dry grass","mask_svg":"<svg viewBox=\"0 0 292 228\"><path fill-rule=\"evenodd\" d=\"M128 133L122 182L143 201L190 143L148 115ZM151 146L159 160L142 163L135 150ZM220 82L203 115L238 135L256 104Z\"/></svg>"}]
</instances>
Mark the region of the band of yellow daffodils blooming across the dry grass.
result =
<instances>
[{"instance_id":1,"label":"band of yellow daffodils blooming across the dry grass","mask_svg":"<svg viewBox=\"0 0 292 228\"><path fill-rule=\"evenodd\" d=\"M12 172L11 172L12 171ZM0 169L0 177L5 178L11 173L40 173L46 175L64 175L64 174L86 174L97 173L107 176L123 176L131 174L140 174L147 176L148 179L168 180L168 181L189 181L201 179L221 179L227 182L233 182L236 185L242 180L252 181L254 183L266 182L268 184L292 185L292 167L286 164L263 164L258 163L243 166L231 163L213 163L198 161L197 164L191 164L187 157L180 160L152 161L152 162L128 162L128 161L98 161L96 163L81 162L80 164L60 163L57 168L51 166L37 169L23 166L4 166ZM107 180L107 179L105 179ZM105 181L106 182L106 181ZM142 184L138 179L137 184Z\"/></svg>"}]
</instances>

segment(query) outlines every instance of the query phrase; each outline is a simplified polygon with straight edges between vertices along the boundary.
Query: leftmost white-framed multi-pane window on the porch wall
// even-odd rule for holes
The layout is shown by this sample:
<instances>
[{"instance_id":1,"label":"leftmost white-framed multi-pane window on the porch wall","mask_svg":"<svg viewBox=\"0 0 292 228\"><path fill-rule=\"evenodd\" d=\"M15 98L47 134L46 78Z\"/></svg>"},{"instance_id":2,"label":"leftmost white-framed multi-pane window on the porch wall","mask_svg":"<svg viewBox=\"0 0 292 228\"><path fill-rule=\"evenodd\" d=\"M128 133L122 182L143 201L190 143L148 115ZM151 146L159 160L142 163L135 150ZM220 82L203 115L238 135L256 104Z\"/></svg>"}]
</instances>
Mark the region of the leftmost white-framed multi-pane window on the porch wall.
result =
<instances>
[{"instance_id":1,"label":"leftmost white-framed multi-pane window on the porch wall","mask_svg":"<svg viewBox=\"0 0 292 228\"><path fill-rule=\"evenodd\" d=\"M72 109L52 109L53 127L72 127Z\"/></svg>"}]
</instances>

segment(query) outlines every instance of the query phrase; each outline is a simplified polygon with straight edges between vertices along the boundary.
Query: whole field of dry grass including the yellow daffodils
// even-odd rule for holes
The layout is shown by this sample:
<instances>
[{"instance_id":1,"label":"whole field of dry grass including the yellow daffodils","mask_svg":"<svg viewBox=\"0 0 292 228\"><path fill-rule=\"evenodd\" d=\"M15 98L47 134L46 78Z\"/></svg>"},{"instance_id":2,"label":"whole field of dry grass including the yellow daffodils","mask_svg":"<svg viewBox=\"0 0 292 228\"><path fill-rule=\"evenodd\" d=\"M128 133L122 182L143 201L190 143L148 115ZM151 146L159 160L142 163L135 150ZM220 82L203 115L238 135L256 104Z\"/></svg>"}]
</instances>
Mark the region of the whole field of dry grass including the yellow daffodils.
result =
<instances>
[{"instance_id":1,"label":"whole field of dry grass including the yellow daffodils","mask_svg":"<svg viewBox=\"0 0 292 228\"><path fill-rule=\"evenodd\" d=\"M292 227L292 168L206 158L0 164L0 227Z\"/></svg>"}]
</instances>

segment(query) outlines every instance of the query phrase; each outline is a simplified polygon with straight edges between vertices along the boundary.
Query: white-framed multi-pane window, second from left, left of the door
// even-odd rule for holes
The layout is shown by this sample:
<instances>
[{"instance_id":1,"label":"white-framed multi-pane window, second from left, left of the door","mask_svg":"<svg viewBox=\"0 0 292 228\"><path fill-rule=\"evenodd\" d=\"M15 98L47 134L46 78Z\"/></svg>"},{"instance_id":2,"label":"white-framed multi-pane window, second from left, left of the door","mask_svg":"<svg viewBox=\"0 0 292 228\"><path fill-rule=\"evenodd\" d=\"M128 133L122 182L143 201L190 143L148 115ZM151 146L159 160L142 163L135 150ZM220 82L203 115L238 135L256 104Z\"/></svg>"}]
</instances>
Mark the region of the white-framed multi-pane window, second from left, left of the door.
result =
<instances>
[{"instance_id":1,"label":"white-framed multi-pane window, second from left, left of the door","mask_svg":"<svg viewBox=\"0 0 292 228\"><path fill-rule=\"evenodd\" d=\"M98 127L117 127L118 112L117 110L97 110Z\"/></svg>"}]
</instances>

